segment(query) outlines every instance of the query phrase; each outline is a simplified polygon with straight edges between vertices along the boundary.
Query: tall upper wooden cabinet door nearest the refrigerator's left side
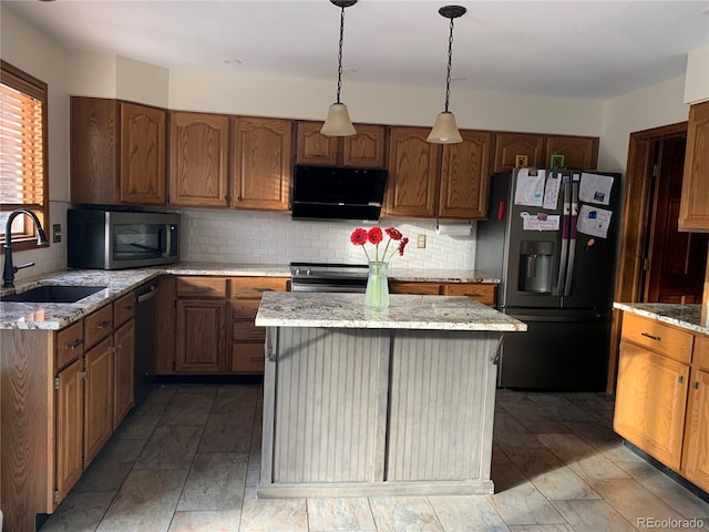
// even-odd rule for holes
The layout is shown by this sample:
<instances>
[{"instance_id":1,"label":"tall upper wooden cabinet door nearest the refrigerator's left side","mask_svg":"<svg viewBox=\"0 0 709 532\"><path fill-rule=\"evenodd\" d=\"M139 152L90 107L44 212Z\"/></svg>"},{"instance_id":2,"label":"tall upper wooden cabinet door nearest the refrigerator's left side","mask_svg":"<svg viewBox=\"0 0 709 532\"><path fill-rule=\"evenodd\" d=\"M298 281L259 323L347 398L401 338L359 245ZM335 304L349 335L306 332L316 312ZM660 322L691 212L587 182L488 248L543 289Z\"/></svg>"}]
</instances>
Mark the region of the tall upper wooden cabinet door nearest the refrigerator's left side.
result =
<instances>
[{"instance_id":1,"label":"tall upper wooden cabinet door nearest the refrigerator's left side","mask_svg":"<svg viewBox=\"0 0 709 532\"><path fill-rule=\"evenodd\" d=\"M492 133L461 131L461 136L463 142L443 145L439 217L484 218Z\"/></svg>"}]
</instances>

